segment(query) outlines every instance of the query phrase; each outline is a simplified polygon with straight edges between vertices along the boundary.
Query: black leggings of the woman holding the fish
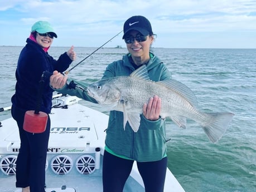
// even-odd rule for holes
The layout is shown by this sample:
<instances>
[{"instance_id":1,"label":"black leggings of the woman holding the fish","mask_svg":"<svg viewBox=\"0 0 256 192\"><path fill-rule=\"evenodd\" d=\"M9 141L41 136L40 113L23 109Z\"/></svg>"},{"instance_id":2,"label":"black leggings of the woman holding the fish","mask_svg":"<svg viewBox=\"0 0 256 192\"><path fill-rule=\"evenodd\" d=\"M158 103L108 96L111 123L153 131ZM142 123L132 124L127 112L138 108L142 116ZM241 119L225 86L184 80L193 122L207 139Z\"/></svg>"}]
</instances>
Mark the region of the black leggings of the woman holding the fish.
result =
<instances>
[{"instance_id":1,"label":"black leggings of the woman holding the fish","mask_svg":"<svg viewBox=\"0 0 256 192\"><path fill-rule=\"evenodd\" d=\"M103 192L122 192L131 173L133 160L123 159L104 151ZM160 161L137 162L146 192L163 192L167 169L167 157Z\"/></svg>"}]
</instances>

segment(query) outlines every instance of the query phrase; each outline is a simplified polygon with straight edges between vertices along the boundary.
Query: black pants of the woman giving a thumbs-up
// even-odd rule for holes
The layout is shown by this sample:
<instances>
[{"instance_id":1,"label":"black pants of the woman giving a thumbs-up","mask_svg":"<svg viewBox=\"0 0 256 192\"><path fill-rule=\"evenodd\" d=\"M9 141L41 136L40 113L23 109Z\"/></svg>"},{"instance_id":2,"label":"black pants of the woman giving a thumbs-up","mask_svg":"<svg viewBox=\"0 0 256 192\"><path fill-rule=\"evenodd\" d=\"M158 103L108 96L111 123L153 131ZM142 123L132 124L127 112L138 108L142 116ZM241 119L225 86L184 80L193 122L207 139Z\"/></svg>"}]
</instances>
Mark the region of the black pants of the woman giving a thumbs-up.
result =
<instances>
[{"instance_id":1,"label":"black pants of the woman giving a thumbs-up","mask_svg":"<svg viewBox=\"0 0 256 192\"><path fill-rule=\"evenodd\" d=\"M12 106L12 117L17 121L21 147L16 161L16 187L30 186L31 192L45 192L45 163L50 136L50 117L46 130L32 134L23 130L25 111Z\"/></svg>"}]
</instances>

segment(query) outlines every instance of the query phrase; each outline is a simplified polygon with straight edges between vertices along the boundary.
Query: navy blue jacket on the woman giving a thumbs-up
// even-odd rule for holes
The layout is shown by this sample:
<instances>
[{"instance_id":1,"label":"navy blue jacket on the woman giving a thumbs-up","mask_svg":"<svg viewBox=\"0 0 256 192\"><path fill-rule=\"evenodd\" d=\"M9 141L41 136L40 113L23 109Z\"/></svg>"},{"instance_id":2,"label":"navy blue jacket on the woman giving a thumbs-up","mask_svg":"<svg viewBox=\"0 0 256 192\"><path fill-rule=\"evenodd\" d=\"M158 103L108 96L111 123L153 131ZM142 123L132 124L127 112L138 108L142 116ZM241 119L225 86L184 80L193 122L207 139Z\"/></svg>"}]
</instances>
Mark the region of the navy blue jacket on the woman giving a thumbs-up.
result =
<instances>
[{"instance_id":1,"label":"navy blue jacket on the woman giving a thumbs-up","mask_svg":"<svg viewBox=\"0 0 256 192\"><path fill-rule=\"evenodd\" d=\"M36 42L27 39L27 44L23 47L16 69L16 92L12 96L12 104L21 110L38 110L49 114L52 106L52 92L49 86L49 79L44 81L41 103L37 104L38 92L40 91L40 80L44 71L53 72L57 70L64 72L72 62L63 53L58 60L55 60L45 52Z\"/></svg>"}]
</instances>

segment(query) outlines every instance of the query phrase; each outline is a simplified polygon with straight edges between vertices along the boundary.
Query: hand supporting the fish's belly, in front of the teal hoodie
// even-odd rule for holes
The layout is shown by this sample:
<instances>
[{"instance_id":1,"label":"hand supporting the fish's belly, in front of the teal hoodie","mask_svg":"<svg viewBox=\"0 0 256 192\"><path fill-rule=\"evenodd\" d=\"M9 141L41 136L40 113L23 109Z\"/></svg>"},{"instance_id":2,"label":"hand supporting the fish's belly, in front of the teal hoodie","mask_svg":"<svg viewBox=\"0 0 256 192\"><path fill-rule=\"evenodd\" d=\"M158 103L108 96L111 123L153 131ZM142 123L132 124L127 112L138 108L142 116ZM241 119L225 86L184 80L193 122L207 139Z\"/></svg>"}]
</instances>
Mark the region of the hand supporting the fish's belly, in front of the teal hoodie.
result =
<instances>
[{"instance_id":1,"label":"hand supporting the fish's belly, in front of the teal hoodie","mask_svg":"<svg viewBox=\"0 0 256 192\"><path fill-rule=\"evenodd\" d=\"M148 104L143 105L143 115L146 119L156 121L160 118L161 98L157 95L151 97Z\"/></svg>"}]
</instances>

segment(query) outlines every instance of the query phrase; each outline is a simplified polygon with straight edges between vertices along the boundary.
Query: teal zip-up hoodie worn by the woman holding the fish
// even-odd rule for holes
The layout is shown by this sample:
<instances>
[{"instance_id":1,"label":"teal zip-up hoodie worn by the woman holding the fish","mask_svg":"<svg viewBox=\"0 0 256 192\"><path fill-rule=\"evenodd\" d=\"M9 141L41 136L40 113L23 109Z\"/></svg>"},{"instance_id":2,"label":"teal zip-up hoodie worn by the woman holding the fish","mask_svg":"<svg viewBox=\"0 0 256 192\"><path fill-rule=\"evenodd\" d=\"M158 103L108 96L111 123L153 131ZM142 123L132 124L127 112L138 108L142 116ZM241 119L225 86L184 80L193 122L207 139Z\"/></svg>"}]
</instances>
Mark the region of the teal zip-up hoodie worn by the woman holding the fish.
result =
<instances>
[{"instance_id":1,"label":"teal zip-up hoodie worn by the woman holding the fish","mask_svg":"<svg viewBox=\"0 0 256 192\"><path fill-rule=\"evenodd\" d=\"M146 64L149 78L152 81L162 81L171 78L171 73L161 60L152 53L150 55L151 59ZM129 76L135 70L131 61L131 55L128 53L123 56L123 60L110 63L102 78ZM69 78L68 82L70 81L74 81L75 84L83 88L88 86L88 83ZM70 89L67 85L56 91L97 103L86 92L79 89ZM123 112L110 111L107 136L105 138L105 150L111 154L138 162L158 161L166 156L166 140L165 120L150 121L141 115L139 130L134 132L128 122L125 130L123 129Z\"/></svg>"}]
</instances>

